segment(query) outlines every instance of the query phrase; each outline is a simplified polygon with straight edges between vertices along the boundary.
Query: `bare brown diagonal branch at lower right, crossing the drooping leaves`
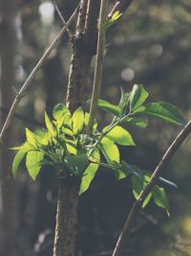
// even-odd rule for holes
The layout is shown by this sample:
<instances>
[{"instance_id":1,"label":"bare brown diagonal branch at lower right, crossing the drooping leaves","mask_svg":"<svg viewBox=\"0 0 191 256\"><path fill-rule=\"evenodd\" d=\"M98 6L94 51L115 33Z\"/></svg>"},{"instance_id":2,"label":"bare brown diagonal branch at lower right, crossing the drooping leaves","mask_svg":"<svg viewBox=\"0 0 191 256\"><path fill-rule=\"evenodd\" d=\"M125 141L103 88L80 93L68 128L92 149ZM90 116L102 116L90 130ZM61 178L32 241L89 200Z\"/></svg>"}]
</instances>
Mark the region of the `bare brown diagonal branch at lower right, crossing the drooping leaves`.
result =
<instances>
[{"instance_id":1,"label":"bare brown diagonal branch at lower right, crossing the drooping leaves","mask_svg":"<svg viewBox=\"0 0 191 256\"><path fill-rule=\"evenodd\" d=\"M151 176L148 184L146 185L145 189L140 193L138 199L134 203L134 205L130 211L130 214L124 224L123 230L118 238L117 245L115 247L113 256L120 256L122 254L125 244L127 244L129 241L132 227L134 225L134 222L136 221L139 208L141 207L144 199L151 192L152 188L159 180L159 175L163 171L164 167L171 160L171 158L176 153L176 151L179 150L180 145L187 138L187 136L189 135L190 132L191 132L191 120L188 122L188 124L185 126L185 128L183 128L180 131L177 138L173 141L171 146L164 153L163 157L161 158L161 160L159 162L159 165L157 166L156 170L154 171L153 175Z\"/></svg>"}]
</instances>

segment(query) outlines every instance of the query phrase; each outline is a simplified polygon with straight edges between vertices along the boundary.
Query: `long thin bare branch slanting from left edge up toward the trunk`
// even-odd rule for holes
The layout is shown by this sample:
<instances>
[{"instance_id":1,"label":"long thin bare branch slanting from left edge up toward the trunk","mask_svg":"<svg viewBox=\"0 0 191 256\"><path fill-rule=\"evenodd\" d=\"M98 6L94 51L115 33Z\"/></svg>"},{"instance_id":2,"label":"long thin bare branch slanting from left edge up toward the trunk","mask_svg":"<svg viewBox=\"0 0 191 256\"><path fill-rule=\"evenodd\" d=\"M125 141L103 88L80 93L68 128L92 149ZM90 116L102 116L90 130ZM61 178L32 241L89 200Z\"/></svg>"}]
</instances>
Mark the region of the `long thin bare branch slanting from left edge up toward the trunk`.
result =
<instances>
[{"instance_id":1,"label":"long thin bare branch slanting from left edge up toward the trunk","mask_svg":"<svg viewBox=\"0 0 191 256\"><path fill-rule=\"evenodd\" d=\"M71 22L74 19L74 16L77 12L77 9L74 11L74 13L72 14L72 16L70 17L70 19L67 22L67 26L69 26L71 24ZM4 123L4 126L0 132L0 148L3 146L3 139L4 139L4 135L7 131L7 129L10 127L11 125L11 121L12 118L14 116L15 110L17 105L19 104L19 102L21 101L21 99L25 96L25 94L27 93L28 89L30 88L31 82L33 80L33 78L35 77L37 71L40 69L40 67L44 64L44 62L46 61L46 59L48 58L48 56L51 54L51 52L53 51L53 49L57 46L60 38L62 35L64 35L66 31L66 27L63 27L62 30L55 36L55 38L53 39L53 42L51 43L51 45L49 46L49 48L46 50L46 52L44 53L44 55L42 56L42 58L40 58L40 60L38 61L38 63L36 64L36 66L33 68L32 73L30 74L30 76L28 77L28 79L24 82L24 84L22 85L20 91L18 92L18 94L16 95L12 105L11 105L11 109L10 112L6 118L6 121Z\"/></svg>"}]
</instances>

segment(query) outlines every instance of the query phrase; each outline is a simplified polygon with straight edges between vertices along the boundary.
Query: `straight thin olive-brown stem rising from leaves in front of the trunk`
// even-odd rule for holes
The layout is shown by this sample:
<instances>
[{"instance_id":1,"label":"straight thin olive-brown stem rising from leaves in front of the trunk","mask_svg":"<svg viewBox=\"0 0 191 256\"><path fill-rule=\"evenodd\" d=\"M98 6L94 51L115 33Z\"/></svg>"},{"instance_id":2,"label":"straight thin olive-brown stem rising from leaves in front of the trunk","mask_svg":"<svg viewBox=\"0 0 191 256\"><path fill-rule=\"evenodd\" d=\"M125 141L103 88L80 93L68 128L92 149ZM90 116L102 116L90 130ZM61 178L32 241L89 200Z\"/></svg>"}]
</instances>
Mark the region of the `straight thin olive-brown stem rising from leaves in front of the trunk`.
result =
<instances>
[{"instance_id":1,"label":"straight thin olive-brown stem rising from leaves in front of the trunk","mask_svg":"<svg viewBox=\"0 0 191 256\"><path fill-rule=\"evenodd\" d=\"M106 35L107 10L108 10L108 0L102 0L100 13L99 13L99 23L98 23L95 79L94 79L94 87L93 87L93 94L92 94L92 102L90 107L90 119L87 127L87 134L92 133L94 120L96 116L97 102L98 102L98 97L100 92L101 75L102 75L102 69L103 69L105 35Z\"/></svg>"}]
</instances>

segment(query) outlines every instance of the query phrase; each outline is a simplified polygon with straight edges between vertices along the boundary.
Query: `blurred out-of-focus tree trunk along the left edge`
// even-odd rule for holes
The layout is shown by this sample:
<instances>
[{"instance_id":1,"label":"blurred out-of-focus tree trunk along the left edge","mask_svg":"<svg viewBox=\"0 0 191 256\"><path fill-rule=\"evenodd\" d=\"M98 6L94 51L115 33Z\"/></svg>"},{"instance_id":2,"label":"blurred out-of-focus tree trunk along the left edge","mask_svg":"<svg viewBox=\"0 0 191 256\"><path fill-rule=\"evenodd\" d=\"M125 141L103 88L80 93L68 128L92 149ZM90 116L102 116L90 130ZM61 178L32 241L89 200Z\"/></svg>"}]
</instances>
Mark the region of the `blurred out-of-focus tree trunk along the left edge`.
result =
<instances>
[{"instance_id":1,"label":"blurred out-of-focus tree trunk along the left edge","mask_svg":"<svg viewBox=\"0 0 191 256\"><path fill-rule=\"evenodd\" d=\"M12 86L14 85L14 56L15 56L15 4L11 0L0 0L0 59L1 59L1 105L10 108L13 100ZM2 114L1 122L5 121ZM8 147L12 145L13 128L10 128L5 138L5 145L0 152L1 157L1 197L2 197L2 242L4 255L16 255L15 230L16 230L16 203L15 181L11 175L11 152Z\"/></svg>"}]
</instances>

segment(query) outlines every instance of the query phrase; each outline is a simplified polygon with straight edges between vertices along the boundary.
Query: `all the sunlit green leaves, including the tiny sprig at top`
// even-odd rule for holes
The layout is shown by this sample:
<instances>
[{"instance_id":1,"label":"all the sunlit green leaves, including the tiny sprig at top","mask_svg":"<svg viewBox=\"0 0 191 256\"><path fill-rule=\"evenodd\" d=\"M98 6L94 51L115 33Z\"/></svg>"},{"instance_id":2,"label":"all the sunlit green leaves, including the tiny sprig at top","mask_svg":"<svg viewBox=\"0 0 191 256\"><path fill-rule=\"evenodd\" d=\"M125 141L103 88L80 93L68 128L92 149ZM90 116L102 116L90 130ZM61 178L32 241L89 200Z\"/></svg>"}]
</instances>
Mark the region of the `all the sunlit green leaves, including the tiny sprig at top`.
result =
<instances>
[{"instance_id":1,"label":"all the sunlit green leaves, including the tiny sprig at top","mask_svg":"<svg viewBox=\"0 0 191 256\"><path fill-rule=\"evenodd\" d=\"M119 15L116 15L113 21L118 17ZM130 176L134 197L138 199L148 184L151 173L120 159L117 145L127 147L136 145L131 133L122 125L146 128L147 124L142 120L145 115L173 124L185 124L180 110L174 105L166 103L144 105L148 95L142 85L136 84L131 92L126 93L121 89L118 105L99 99L98 107L114 115L114 118L102 131L98 131L95 120L92 135L86 134L90 114L84 112L82 107L75 109L72 115L66 105L55 105L53 120L45 112L46 128L34 132L26 128L26 142L12 149L18 151L12 162L13 175L17 174L24 158L26 158L28 173L33 180L36 179L41 167L49 164L61 170L65 176L74 175L80 178L79 194L81 195L88 190L99 166L102 165L110 168L117 180ZM106 162L100 162L101 153ZM174 186L174 183L164 178L161 178L161 181ZM144 200L143 208L151 198L169 214L164 188L155 185Z\"/></svg>"}]
</instances>

